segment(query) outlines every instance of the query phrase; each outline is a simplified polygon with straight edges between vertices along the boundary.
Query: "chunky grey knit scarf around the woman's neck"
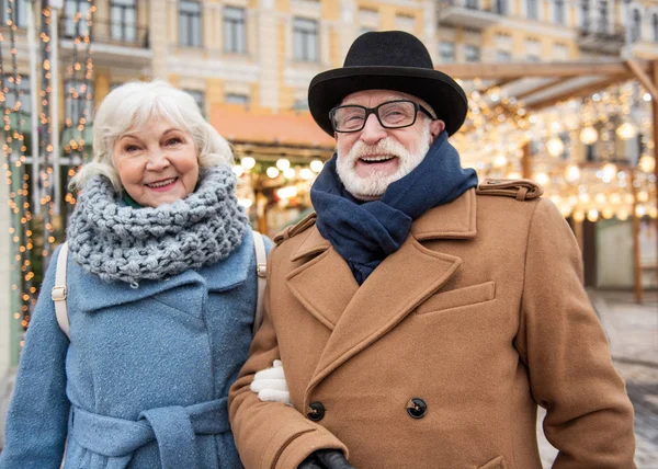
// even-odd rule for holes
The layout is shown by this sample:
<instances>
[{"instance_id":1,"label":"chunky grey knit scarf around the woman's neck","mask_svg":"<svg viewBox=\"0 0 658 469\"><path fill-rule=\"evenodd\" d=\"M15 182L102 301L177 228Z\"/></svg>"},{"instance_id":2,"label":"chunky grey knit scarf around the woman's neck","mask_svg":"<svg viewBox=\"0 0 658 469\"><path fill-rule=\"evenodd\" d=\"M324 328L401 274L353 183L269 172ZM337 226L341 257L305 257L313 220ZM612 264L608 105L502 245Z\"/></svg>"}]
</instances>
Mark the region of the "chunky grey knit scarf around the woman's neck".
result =
<instances>
[{"instance_id":1,"label":"chunky grey knit scarf around the woman's neck","mask_svg":"<svg viewBox=\"0 0 658 469\"><path fill-rule=\"evenodd\" d=\"M69 250L87 272L133 287L214 264L240 245L249 222L235 187L231 169L220 165L203 171L196 191L183 199L133 208L97 176L71 215Z\"/></svg>"}]
</instances>

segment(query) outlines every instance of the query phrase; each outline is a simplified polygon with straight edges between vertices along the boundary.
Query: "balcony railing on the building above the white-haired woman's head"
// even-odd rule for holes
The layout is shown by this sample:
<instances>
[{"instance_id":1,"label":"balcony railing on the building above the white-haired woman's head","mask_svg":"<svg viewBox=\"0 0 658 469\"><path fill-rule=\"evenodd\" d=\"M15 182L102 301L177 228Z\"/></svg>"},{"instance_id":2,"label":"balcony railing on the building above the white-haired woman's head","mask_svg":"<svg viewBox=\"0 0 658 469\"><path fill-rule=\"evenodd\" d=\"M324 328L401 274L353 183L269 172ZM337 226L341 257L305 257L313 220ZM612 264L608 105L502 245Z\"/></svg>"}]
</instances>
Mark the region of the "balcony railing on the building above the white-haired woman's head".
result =
<instances>
[{"instance_id":1,"label":"balcony railing on the building above the white-haired woman's head","mask_svg":"<svg viewBox=\"0 0 658 469\"><path fill-rule=\"evenodd\" d=\"M89 26L86 21L76 23L72 18L64 16L59 22L59 36L75 39L88 34ZM124 47L138 47L148 49L148 27L137 26L132 23L118 21L94 20L91 30L92 43L112 44Z\"/></svg>"}]
</instances>

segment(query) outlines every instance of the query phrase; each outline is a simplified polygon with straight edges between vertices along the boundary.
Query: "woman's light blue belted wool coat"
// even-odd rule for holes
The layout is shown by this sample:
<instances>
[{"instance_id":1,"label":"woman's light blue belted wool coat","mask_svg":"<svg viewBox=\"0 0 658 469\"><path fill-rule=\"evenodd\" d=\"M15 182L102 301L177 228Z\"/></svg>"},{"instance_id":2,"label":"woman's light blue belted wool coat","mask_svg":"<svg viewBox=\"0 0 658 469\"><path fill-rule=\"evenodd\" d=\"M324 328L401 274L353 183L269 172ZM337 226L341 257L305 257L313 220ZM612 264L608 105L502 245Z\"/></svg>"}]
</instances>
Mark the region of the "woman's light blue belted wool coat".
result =
<instances>
[{"instance_id":1,"label":"woman's light blue belted wool coat","mask_svg":"<svg viewBox=\"0 0 658 469\"><path fill-rule=\"evenodd\" d=\"M50 299L52 262L0 468L58 469L65 443L66 469L241 467L226 401L251 342L251 231L228 259L138 288L87 274L70 256L67 276L70 343Z\"/></svg>"}]
</instances>

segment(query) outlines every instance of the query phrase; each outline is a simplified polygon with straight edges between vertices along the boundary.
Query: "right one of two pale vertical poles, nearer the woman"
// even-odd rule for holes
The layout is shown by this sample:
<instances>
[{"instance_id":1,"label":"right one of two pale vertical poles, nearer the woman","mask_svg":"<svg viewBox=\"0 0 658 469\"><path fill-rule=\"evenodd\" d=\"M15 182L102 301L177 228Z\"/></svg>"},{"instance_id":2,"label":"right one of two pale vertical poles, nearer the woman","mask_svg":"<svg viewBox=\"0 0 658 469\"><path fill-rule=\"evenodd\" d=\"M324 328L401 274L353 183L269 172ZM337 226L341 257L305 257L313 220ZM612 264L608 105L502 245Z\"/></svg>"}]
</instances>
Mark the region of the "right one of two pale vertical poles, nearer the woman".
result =
<instances>
[{"instance_id":1,"label":"right one of two pale vertical poles, nearer the woman","mask_svg":"<svg viewBox=\"0 0 658 469\"><path fill-rule=\"evenodd\" d=\"M53 214L59 215L61 204L61 181L59 168L59 46L58 16L61 2L50 3L50 142L53 145Z\"/></svg>"}]
</instances>

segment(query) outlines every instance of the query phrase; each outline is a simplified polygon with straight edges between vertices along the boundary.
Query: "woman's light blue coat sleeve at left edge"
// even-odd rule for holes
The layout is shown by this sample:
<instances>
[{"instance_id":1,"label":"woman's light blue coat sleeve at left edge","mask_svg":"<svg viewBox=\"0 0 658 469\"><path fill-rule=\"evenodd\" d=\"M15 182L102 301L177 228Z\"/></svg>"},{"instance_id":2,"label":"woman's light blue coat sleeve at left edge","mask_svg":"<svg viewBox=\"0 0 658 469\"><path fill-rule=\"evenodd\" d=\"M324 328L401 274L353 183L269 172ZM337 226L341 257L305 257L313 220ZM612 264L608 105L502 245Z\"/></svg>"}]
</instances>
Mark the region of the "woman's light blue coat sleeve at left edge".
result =
<instances>
[{"instance_id":1,"label":"woman's light blue coat sleeve at left edge","mask_svg":"<svg viewBox=\"0 0 658 469\"><path fill-rule=\"evenodd\" d=\"M58 469L61 464L70 405L65 369L69 342L59 329L50 298L55 264L48 267L25 336L7 414L1 469Z\"/></svg>"}]
</instances>

